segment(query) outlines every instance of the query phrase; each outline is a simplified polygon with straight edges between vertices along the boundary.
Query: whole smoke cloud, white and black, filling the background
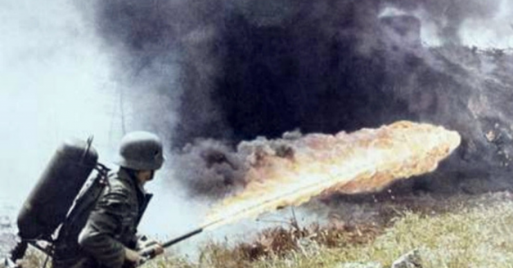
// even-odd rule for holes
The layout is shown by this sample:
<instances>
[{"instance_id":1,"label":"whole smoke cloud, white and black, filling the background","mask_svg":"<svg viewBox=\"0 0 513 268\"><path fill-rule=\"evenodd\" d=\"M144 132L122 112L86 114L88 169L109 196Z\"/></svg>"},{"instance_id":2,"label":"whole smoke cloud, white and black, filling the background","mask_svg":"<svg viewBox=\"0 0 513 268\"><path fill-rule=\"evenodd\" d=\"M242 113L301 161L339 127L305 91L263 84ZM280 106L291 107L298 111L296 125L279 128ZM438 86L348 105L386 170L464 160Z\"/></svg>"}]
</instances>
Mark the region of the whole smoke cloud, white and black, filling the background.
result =
<instances>
[{"instance_id":1,"label":"whole smoke cloud, white and black, filling the background","mask_svg":"<svg viewBox=\"0 0 513 268\"><path fill-rule=\"evenodd\" d=\"M109 163L123 133L145 129L172 153L141 231L181 233L205 209L190 196L244 188L240 142L397 119L463 137L406 191L511 186L510 1L0 3L0 200L21 205L66 137L94 135Z\"/></svg>"}]
</instances>

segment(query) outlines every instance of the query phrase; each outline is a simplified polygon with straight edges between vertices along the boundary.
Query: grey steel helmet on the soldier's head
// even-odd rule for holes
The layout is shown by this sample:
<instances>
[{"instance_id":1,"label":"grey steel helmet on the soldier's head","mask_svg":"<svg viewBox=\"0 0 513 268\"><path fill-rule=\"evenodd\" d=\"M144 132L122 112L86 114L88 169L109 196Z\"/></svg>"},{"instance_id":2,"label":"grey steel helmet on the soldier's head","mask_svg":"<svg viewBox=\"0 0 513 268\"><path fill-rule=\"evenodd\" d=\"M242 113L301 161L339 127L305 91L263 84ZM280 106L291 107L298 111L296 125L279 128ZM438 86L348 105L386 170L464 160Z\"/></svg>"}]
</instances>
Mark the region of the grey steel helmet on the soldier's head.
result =
<instances>
[{"instance_id":1,"label":"grey steel helmet on the soldier's head","mask_svg":"<svg viewBox=\"0 0 513 268\"><path fill-rule=\"evenodd\" d=\"M156 170L164 162L162 142L153 133L134 131L121 139L117 164L127 169Z\"/></svg>"}]
</instances>

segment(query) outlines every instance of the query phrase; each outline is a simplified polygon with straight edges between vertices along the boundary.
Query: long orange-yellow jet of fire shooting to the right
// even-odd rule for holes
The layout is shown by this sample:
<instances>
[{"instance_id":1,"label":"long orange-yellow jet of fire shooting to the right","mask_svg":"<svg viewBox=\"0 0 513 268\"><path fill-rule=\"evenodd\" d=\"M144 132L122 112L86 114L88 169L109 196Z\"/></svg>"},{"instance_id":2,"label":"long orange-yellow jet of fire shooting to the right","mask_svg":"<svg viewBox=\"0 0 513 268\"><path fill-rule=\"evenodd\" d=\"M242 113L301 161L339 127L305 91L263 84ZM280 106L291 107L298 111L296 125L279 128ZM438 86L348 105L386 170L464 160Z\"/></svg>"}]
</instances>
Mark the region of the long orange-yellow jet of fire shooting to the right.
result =
<instances>
[{"instance_id":1,"label":"long orange-yellow jet of fire shooting to the right","mask_svg":"<svg viewBox=\"0 0 513 268\"><path fill-rule=\"evenodd\" d=\"M280 143L279 150L249 144L249 184L217 205L205 228L299 205L321 194L379 191L395 180L429 173L459 146L460 135L401 121L354 133L272 142Z\"/></svg>"}]
</instances>

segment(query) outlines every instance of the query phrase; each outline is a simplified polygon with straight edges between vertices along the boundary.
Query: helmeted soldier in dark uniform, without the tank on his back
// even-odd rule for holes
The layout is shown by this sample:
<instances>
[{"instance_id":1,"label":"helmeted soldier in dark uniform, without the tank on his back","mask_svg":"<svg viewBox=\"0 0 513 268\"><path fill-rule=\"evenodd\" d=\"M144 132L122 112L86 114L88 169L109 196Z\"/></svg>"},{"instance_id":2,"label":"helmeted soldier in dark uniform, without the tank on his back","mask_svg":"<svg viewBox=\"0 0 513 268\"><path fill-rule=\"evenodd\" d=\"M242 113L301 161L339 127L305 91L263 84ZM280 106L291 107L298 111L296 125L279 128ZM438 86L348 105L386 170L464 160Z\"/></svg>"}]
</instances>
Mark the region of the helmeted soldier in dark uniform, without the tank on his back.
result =
<instances>
[{"instance_id":1,"label":"helmeted soldier in dark uniform, without the tank on his back","mask_svg":"<svg viewBox=\"0 0 513 268\"><path fill-rule=\"evenodd\" d=\"M141 262L136 228L151 198L143 186L153 180L163 161L159 137L143 131L125 135L117 163L120 169L109 176L109 185L80 231L77 256L56 252L53 267L120 268ZM158 243L152 247L156 254L163 253Z\"/></svg>"}]
</instances>

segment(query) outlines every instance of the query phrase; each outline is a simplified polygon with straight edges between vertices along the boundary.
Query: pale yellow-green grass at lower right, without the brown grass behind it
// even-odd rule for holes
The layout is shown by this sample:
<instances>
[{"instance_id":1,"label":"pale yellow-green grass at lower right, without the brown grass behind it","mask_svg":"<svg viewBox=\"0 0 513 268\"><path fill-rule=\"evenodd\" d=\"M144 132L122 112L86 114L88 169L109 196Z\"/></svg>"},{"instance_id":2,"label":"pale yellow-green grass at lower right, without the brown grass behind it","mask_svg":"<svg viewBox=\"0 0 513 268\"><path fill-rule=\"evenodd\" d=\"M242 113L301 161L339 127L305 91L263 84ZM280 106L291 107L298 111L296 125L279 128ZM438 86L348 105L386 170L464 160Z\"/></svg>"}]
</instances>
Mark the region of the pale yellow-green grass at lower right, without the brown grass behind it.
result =
<instances>
[{"instance_id":1,"label":"pale yellow-green grass at lower right, without the brown grass behind it","mask_svg":"<svg viewBox=\"0 0 513 268\"><path fill-rule=\"evenodd\" d=\"M210 244L198 263L181 267L335 268L342 262L379 262L390 267L413 249L419 249L427 268L513 267L513 202L458 206L451 209L456 212L434 215L406 211L375 239L343 247L327 247L312 240L316 247L299 245L249 260L238 247Z\"/></svg>"}]
</instances>

